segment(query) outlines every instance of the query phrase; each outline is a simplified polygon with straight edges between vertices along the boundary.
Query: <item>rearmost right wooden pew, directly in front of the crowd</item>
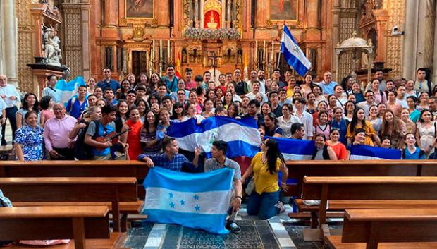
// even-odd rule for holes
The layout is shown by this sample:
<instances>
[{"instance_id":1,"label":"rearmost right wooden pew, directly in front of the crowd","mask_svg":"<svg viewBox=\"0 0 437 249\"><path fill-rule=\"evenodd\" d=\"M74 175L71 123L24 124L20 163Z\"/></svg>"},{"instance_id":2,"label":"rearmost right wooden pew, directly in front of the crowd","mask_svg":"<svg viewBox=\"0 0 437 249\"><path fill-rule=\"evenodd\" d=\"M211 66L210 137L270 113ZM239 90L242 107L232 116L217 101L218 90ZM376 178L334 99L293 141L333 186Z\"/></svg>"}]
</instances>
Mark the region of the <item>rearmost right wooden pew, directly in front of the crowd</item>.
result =
<instances>
[{"instance_id":1,"label":"rearmost right wooden pew, directly in front of the crowd","mask_svg":"<svg viewBox=\"0 0 437 249\"><path fill-rule=\"evenodd\" d=\"M302 194L304 176L437 176L433 160L287 161L287 196Z\"/></svg>"}]
</instances>

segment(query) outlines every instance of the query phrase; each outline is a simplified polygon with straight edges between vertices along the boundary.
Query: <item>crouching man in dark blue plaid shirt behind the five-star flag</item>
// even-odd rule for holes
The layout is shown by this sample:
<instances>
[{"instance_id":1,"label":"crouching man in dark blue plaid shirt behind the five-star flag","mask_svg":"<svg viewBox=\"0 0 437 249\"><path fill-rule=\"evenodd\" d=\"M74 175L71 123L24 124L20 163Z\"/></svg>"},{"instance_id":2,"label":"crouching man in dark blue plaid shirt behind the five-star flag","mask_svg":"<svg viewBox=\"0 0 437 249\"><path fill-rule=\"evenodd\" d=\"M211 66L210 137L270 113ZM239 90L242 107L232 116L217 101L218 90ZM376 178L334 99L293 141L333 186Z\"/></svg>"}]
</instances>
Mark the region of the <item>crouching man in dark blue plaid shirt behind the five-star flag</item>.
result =
<instances>
[{"instance_id":1,"label":"crouching man in dark blue plaid shirt behind the five-star flag","mask_svg":"<svg viewBox=\"0 0 437 249\"><path fill-rule=\"evenodd\" d=\"M138 160L146 162L149 168L153 166L159 166L164 169L170 169L173 171L180 171L183 166L187 169L196 169L197 162L199 162L200 148L195 149L195 158L192 162L188 161L187 157L183 154L179 154L178 141L174 138L166 137L162 140L162 150L164 153L152 155L147 157L146 154L140 154Z\"/></svg>"}]
</instances>

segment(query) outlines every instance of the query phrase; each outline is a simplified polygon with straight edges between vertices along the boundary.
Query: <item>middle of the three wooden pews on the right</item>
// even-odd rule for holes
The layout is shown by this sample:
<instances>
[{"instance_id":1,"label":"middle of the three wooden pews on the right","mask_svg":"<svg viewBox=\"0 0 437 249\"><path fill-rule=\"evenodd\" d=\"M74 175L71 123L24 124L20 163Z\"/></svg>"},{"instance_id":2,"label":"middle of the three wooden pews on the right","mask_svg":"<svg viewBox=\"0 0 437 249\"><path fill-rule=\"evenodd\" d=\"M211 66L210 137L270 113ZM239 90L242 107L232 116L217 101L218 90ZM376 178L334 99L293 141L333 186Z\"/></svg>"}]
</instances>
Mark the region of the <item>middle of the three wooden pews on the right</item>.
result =
<instances>
[{"instance_id":1,"label":"middle of the three wooden pews on the right","mask_svg":"<svg viewBox=\"0 0 437 249\"><path fill-rule=\"evenodd\" d=\"M305 176L302 193L303 200L320 200L319 226L326 223L326 210L329 200L329 209L333 211L363 208L367 200L379 200L368 207L393 207L393 200L410 200L398 202L400 207L416 208L417 205L425 208L437 208L437 178L421 177L315 177ZM337 203L336 200L343 200ZM360 202L363 201L364 202ZM414 200L419 202L414 203ZM421 202L421 201L430 202ZM353 201L353 202L350 202ZM378 207L378 205L381 206Z\"/></svg>"}]
</instances>

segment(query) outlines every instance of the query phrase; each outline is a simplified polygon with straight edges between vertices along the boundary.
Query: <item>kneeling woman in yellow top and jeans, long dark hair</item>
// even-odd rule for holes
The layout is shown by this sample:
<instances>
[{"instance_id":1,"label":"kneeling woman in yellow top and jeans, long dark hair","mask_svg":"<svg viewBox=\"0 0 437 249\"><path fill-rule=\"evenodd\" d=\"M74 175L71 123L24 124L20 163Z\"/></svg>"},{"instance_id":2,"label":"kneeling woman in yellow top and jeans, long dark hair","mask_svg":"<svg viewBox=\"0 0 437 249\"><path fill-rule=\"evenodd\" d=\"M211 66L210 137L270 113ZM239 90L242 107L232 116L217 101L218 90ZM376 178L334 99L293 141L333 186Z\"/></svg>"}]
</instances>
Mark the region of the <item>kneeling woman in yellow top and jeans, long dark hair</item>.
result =
<instances>
[{"instance_id":1,"label":"kneeling woman in yellow top and jeans, long dark hair","mask_svg":"<svg viewBox=\"0 0 437 249\"><path fill-rule=\"evenodd\" d=\"M269 219L283 210L283 204L278 202L278 171L282 172L281 187L286 191L285 181L288 177L288 169L279 152L278 142L267 139L261 145L261 152L252 158L249 169L241 179L244 183L247 177L254 175L255 188L247 203L248 214L258 215L261 219Z\"/></svg>"}]
</instances>

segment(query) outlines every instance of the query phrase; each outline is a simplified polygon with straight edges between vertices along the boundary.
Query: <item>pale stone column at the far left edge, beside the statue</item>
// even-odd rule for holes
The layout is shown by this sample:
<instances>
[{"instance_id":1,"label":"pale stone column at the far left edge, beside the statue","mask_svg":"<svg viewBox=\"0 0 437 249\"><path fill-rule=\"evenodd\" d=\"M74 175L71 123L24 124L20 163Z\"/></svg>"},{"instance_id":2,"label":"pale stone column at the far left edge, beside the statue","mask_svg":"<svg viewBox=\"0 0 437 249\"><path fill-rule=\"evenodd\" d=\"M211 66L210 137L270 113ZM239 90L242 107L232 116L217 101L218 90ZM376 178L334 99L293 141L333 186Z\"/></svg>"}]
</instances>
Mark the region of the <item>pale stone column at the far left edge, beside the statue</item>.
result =
<instances>
[{"instance_id":1,"label":"pale stone column at the far left edge, beside the statue","mask_svg":"<svg viewBox=\"0 0 437 249\"><path fill-rule=\"evenodd\" d=\"M4 57L5 69L8 76L8 82L18 86L17 77L17 46L18 30L17 18L15 15L14 0L4 1ZM3 15L2 15L3 16Z\"/></svg>"}]
</instances>

